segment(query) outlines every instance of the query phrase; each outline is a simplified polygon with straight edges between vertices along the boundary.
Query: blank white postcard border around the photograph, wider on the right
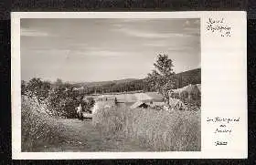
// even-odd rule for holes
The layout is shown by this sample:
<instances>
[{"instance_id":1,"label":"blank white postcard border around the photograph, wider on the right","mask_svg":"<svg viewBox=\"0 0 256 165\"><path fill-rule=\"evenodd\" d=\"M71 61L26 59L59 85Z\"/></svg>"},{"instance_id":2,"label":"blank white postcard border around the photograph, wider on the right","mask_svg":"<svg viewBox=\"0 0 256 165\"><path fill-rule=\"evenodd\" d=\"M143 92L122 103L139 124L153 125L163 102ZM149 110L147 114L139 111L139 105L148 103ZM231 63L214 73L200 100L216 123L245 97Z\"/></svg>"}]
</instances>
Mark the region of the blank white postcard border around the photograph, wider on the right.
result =
<instances>
[{"instance_id":1,"label":"blank white postcard border around the photograph, wider on the right","mask_svg":"<svg viewBox=\"0 0 256 165\"><path fill-rule=\"evenodd\" d=\"M231 37L206 32L208 17L225 18ZM200 18L202 69L202 148L197 152L21 152L20 19L21 18ZM245 12L14 12L11 13L12 155L15 160L67 159L245 159L247 158L247 66ZM228 48L227 48L228 47ZM228 50L228 51L227 51ZM221 73L223 73L221 75ZM214 77L214 78L212 78ZM231 83L231 84L230 84ZM213 93L213 91L217 91ZM223 101L225 100L225 101ZM213 104L214 103L214 104ZM237 104L234 104L237 103ZM229 147L212 145L207 117L237 117ZM239 132L239 133L238 133ZM231 141L231 142L232 142Z\"/></svg>"}]
</instances>

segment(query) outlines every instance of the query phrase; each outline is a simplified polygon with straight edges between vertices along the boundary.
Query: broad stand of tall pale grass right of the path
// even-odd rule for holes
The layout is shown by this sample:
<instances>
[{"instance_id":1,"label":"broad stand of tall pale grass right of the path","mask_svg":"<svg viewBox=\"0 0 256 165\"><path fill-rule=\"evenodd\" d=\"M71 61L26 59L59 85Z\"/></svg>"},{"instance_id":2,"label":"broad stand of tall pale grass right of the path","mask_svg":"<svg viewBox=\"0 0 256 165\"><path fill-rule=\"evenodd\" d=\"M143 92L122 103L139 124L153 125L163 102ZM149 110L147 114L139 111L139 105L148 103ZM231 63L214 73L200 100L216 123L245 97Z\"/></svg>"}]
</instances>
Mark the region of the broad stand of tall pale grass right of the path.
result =
<instances>
[{"instance_id":1,"label":"broad stand of tall pale grass right of the path","mask_svg":"<svg viewBox=\"0 0 256 165\"><path fill-rule=\"evenodd\" d=\"M126 106L101 108L93 116L94 126L108 134L136 139L155 151L200 150L200 111L156 111Z\"/></svg>"}]
</instances>

